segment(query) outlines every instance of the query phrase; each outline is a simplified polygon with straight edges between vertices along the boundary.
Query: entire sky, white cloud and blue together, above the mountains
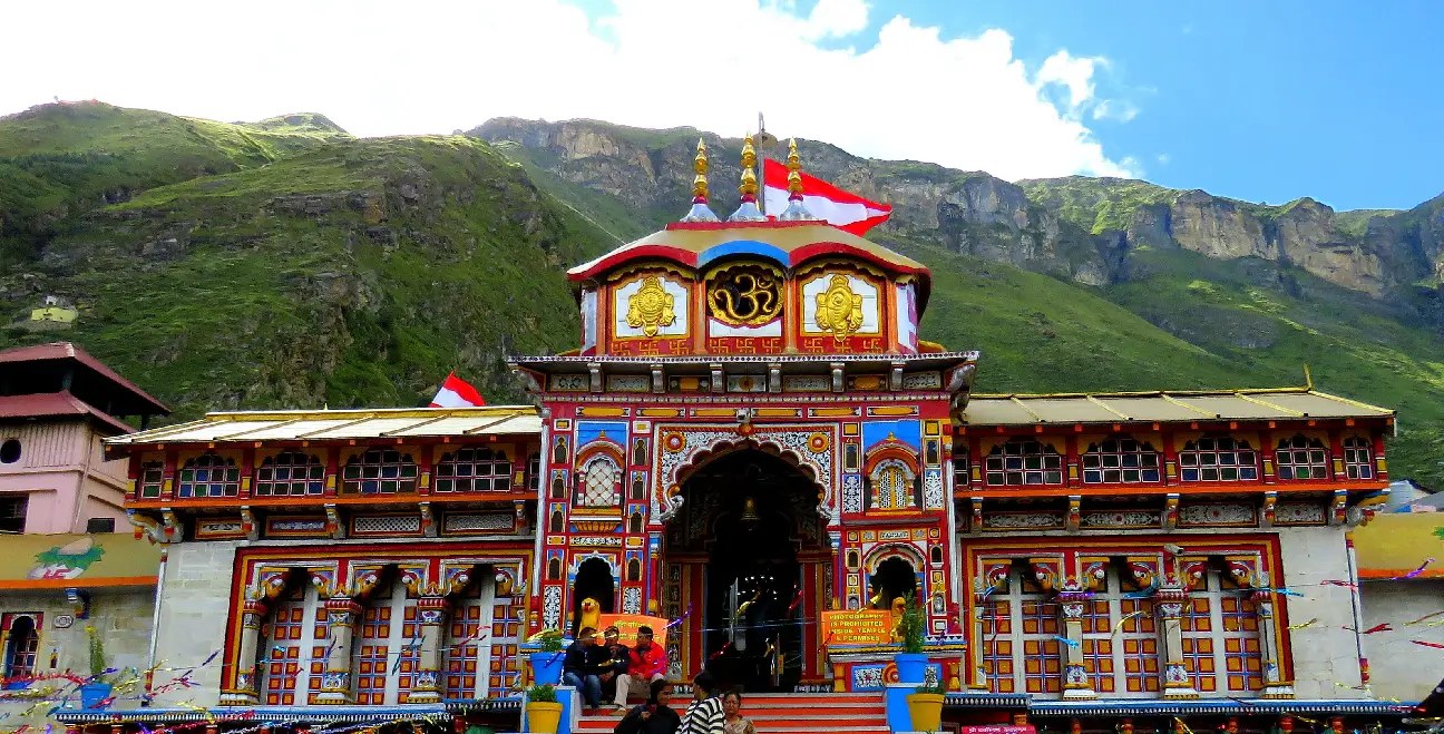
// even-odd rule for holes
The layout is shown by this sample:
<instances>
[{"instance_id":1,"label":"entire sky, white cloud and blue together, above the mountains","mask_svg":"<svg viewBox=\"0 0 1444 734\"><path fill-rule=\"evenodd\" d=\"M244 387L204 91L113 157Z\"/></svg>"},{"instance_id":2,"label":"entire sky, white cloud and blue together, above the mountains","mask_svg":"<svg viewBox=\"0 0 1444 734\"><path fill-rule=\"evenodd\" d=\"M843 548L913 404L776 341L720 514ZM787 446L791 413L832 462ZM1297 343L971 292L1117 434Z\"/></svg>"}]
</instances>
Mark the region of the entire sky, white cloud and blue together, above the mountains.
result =
<instances>
[{"instance_id":1,"label":"entire sky, white cloud and blue together, above the mountains","mask_svg":"<svg viewBox=\"0 0 1444 734\"><path fill-rule=\"evenodd\" d=\"M1141 176L1337 210L1409 208L1444 191L1440 1L250 0L235 13L55 0L7 12L14 27L64 27L66 52L45 33L0 45L0 69L25 71L0 84L0 114L61 98L227 121L316 111L360 136L492 117L741 136L762 110L783 137L1008 181ZM218 55L218 27L245 52ZM97 71L116 59L121 72Z\"/></svg>"}]
</instances>

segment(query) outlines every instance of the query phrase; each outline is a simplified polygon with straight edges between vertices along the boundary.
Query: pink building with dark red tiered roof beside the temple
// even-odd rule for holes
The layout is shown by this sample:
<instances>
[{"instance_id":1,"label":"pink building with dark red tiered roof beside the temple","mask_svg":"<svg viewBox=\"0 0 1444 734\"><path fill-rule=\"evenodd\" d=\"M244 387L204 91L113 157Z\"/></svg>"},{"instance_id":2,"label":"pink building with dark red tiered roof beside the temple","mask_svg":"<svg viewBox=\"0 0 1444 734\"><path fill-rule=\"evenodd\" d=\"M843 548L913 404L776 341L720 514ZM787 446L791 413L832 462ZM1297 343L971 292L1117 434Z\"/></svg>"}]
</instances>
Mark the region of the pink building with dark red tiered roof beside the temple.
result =
<instances>
[{"instance_id":1,"label":"pink building with dark red tiered roof beside the temple","mask_svg":"<svg viewBox=\"0 0 1444 734\"><path fill-rule=\"evenodd\" d=\"M126 526L126 462L101 439L169 409L69 342L0 351L0 533Z\"/></svg>"}]
</instances>

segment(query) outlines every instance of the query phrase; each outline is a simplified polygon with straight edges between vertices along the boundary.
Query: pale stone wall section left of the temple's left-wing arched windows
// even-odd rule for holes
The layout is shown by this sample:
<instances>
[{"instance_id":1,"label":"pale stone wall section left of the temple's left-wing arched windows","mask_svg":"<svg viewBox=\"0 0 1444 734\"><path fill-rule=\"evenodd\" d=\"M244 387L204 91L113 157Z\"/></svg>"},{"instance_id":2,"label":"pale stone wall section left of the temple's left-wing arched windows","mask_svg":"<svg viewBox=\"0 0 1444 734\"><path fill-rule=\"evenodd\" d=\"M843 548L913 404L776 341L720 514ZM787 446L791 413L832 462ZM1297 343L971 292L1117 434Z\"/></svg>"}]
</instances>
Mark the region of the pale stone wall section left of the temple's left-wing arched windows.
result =
<instances>
[{"instance_id":1,"label":"pale stone wall section left of the temple's left-wing arched windows","mask_svg":"<svg viewBox=\"0 0 1444 734\"><path fill-rule=\"evenodd\" d=\"M225 644L225 624L231 605L231 577L238 540L175 543L166 562L165 590L160 598L160 634L156 659L170 666L199 666ZM156 696L157 708L182 702L214 707L221 698L221 660L196 668L193 688ZM162 683L156 679L156 683Z\"/></svg>"}]
</instances>

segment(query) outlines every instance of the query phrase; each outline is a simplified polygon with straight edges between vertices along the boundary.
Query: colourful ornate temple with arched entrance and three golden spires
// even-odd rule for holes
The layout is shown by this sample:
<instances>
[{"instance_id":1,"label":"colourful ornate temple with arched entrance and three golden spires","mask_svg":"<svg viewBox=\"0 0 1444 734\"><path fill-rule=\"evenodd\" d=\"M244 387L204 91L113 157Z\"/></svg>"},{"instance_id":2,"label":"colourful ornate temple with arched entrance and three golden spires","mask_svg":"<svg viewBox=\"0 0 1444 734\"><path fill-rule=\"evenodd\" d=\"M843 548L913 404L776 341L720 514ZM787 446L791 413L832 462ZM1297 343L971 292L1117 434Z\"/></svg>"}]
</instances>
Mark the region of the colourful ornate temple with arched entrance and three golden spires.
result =
<instances>
[{"instance_id":1,"label":"colourful ornate temple with arched entrance and three golden spires","mask_svg":"<svg viewBox=\"0 0 1444 734\"><path fill-rule=\"evenodd\" d=\"M881 701L897 646L820 621L910 595L950 727L1396 711L1347 539L1388 494L1392 410L1313 384L973 394L985 357L918 337L928 269L800 188L768 218L754 162L719 217L699 144L682 221L569 272L579 348L513 361L534 405L110 439L169 546L153 657L198 663L156 715L514 727L526 640L608 613L667 620L677 681Z\"/></svg>"}]
</instances>

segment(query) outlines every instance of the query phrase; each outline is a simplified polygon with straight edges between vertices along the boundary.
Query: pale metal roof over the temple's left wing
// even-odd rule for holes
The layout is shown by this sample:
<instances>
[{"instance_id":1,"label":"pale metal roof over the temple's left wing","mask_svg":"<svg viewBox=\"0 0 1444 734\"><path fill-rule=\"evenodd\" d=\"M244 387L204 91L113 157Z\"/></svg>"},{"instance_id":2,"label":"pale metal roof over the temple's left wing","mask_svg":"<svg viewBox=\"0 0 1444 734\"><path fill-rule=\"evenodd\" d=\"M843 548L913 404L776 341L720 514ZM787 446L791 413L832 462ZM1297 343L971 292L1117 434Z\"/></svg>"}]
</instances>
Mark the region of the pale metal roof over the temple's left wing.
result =
<instances>
[{"instance_id":1,"label":"pale metal roof over the temple's left wing","mask_svg":"<svg viewBox=\"0 0 1444 734\"><path fill-rule=\"evenodd\" d=\"M201 420L107 441L111 446L224 441L345 441L540 433L531 406L403 407L371 410L253 410L209 413Z\"/></svg>"}]
</instances>

